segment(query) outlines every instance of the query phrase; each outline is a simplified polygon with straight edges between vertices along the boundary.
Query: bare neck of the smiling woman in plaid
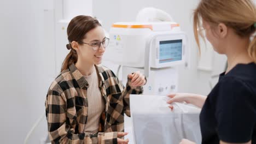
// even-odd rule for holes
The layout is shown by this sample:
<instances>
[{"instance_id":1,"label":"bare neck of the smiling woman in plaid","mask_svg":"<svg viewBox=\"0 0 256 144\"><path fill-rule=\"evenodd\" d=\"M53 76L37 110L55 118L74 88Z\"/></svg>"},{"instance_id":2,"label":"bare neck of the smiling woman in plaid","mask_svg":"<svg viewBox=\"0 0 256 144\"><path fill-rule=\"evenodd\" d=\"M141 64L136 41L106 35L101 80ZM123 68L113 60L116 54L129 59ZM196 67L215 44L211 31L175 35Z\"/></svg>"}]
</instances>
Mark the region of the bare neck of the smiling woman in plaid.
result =
<instances>
[{"instance_id":1,"label":"bare neck of the smiling woman in plaid","mask_svg":"<svg viewBox=\"0 0 256 144\"><path fill-rule=\"evenodd\" d=\"M75 63L75 67L77 67L80 73L84 76L91 75L94 72L94 64L77 61L77 63Z\"/></svg>"}]
</instances>

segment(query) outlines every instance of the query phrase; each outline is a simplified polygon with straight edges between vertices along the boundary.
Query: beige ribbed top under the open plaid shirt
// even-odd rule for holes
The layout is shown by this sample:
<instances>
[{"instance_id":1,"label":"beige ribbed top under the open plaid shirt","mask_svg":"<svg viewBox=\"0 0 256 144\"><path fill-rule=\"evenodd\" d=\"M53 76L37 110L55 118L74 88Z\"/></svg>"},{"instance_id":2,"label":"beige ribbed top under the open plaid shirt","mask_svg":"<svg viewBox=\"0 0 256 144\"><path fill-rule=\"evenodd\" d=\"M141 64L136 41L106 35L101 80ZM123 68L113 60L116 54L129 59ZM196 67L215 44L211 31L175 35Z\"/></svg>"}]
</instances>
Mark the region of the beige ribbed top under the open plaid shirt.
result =
<instances>
[{"instance_id":1,"label":"beige ribbed top under the open plaid shirt","mask_svg":"<svg viewBox=\"0 0 256 144\"><path fill-rule=\"evenodd\" d=\"M89 87L87 89L88 98L88 119L85 125L85 132L95 134L98 132L100 126L101 113L104 110L104 103L101 97L100 88L98 88L98 76L96 68L89 76L84 76L88 81Z\"/></svg>"}]
</instances>

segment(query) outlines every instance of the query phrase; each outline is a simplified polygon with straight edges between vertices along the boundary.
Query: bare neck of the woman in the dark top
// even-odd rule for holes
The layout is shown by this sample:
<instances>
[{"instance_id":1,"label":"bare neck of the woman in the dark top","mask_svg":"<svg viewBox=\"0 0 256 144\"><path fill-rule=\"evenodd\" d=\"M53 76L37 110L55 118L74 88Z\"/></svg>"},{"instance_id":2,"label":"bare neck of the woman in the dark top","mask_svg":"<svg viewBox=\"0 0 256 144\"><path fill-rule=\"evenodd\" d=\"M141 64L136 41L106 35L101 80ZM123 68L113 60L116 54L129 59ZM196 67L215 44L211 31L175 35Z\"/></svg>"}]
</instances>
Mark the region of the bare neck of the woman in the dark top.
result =
<instances>
[{"instance_id":1,"label":"bare neck of the woman in the dark top","mask_svg":"<svg viewBox=\"0 0 256 144\"><path fill-rule=\"evenodd\" d=\"M238 63L247 64L253 62L253 59L249 56L247 51L248 46L248 39L237 39L231 41L225 53L228 57L228 68L226 69L226 73L228 73Z\"/></svg>"}]
</instances>

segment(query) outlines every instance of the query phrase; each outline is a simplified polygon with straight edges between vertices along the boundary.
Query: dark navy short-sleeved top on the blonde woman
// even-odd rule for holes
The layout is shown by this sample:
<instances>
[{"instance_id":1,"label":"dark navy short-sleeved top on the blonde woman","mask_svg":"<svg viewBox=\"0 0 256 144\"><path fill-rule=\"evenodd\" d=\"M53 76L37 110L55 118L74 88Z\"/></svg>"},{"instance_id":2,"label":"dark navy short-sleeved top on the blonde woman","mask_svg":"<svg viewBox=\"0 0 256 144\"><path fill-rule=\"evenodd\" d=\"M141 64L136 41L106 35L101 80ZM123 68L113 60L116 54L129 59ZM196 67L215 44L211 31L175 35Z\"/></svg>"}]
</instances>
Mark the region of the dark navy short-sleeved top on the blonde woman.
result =
<instances>
[{"instance_id":1,"label":"dark navy short-sleeved top on the blonde woman","mask_svg":"<svg viewBox=\"0 0 256 144\"><path fill-rule=\"evenodd\" d=\"M200 113L202 143L256 143L256 64L220 74Z\"/></svg>"}]
</instances>

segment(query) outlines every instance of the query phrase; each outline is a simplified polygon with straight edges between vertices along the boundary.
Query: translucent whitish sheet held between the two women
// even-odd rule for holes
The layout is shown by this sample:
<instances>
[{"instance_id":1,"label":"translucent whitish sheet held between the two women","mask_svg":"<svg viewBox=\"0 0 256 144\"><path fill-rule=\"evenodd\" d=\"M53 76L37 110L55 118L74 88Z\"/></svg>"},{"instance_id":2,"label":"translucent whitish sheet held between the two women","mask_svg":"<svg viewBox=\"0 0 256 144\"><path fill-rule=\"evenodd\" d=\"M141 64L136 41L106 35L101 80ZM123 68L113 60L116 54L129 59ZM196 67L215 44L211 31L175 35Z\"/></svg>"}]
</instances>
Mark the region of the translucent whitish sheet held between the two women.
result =
<instances>
[{"instance_id":1,"label":"translucent whitish sheet held between the two women","mask_svg":"<svg viewBox=\"0 0 256 144\"><path fill-rule=\"evenodd\" d=\"M173 103L173 111L160 95L130 95L133 143L177 144L182 139L201 143L199 113L190 104Z\"/></svg>"}]
</instances>

